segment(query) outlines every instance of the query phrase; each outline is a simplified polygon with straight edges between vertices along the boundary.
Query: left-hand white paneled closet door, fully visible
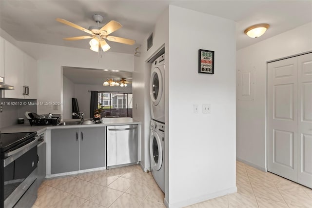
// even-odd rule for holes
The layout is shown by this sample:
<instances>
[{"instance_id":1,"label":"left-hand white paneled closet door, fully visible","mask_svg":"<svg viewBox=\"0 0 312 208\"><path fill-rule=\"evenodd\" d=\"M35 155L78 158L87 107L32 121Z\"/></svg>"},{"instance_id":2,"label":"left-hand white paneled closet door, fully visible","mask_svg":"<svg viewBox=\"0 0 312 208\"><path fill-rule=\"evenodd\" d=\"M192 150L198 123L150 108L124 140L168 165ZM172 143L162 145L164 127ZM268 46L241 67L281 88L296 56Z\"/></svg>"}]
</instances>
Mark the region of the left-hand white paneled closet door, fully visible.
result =
<instances>
[{"instance_id":1,"label":"left-hand white paneled closet door, fully visible","mask_svg":"<svg viewBox=\"0 0 312 208\"><path fill-rule=\"evenodd\" d=\"M298 180L297 63L268 63L268 170Z\"/></svg>"}]
</instances>

